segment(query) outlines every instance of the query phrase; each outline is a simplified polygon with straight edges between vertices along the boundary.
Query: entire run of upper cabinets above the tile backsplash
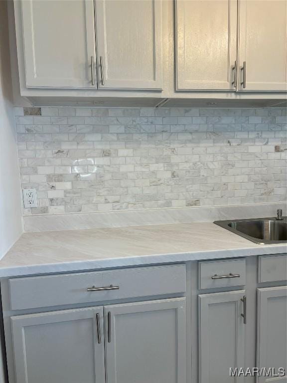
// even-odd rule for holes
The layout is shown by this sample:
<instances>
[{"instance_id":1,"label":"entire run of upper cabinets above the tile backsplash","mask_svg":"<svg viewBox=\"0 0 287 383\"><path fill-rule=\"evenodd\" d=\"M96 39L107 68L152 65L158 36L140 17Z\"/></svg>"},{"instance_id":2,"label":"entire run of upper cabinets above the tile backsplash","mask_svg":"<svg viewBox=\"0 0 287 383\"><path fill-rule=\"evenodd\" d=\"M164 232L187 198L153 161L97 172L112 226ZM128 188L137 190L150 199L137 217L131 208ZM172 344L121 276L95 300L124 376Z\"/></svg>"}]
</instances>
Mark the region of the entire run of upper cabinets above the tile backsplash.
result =
<instances>
[{"instance_id":1,"label":"entire run of upper cabinets above the tile backsplash","mask_svg":"<svg viewBox=\"0 0 287 383\"><path fill-rule=\"evenodd\" d=\"M15 0L14 9L21 95L34 103L272 101L287 91L287 0Z\"/></svg>"}]
</instances>

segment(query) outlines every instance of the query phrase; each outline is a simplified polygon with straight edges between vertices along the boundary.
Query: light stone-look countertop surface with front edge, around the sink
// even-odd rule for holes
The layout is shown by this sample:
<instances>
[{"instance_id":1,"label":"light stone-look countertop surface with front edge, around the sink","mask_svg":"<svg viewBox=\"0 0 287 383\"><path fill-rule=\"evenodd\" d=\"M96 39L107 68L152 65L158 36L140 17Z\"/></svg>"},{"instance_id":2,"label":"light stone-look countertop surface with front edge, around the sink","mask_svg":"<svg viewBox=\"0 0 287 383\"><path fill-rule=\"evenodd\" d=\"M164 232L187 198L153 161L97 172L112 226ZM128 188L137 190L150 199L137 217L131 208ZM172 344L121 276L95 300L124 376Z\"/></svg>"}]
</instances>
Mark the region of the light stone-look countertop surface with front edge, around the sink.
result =
<instances>
[{"instance_id":1,"label":"light stone-look countertop surface with front edge, around the sink","mask_svg":"<svg viewBox=\"0 0 287 383\"><path fill-rule=\"evenodd\" d=\"M212 222L24 233L0 260L0 277L286 253Z\"/></svg>"}]
</instances>

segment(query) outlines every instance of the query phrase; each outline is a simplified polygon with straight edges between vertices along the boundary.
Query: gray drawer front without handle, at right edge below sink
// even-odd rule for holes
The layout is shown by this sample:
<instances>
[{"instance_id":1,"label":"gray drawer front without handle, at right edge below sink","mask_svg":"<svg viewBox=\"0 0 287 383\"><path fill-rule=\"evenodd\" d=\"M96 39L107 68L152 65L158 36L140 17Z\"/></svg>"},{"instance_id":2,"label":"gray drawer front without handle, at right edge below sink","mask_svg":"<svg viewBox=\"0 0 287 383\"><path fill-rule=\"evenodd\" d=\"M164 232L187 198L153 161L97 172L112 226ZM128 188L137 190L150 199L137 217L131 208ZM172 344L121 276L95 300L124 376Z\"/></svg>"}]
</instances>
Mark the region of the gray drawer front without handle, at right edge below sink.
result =
<instances>
[{"instance_id":1,"label":"gray drawer front without handle, at right edge below sink","mask_svg":"<svg viewBox=\"0 0 287 383\"><path fill-rule=\"evenodd\" d=\"M287 254L258 257L258 282L287 280Z\"/></svg>"}]
</instances>

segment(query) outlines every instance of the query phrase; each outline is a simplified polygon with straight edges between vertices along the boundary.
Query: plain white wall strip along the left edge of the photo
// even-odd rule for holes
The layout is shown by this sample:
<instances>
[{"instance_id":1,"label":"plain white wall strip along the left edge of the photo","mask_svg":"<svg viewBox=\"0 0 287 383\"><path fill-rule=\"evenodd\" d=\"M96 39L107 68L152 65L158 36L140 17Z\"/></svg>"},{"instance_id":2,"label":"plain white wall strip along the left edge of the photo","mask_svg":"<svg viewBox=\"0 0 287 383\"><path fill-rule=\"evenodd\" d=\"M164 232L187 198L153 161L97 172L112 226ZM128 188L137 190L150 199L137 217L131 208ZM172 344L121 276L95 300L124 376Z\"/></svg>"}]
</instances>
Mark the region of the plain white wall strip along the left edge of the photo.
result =
<instances>
[{"instance_id":1,"label":"plain white wall strip along the left edge of the photo","mask_svg":"<svg viewBox=\"0 0 287 383\"><path fill-rule=\"evenodd\" d=\"M22 232L12 99L7 3L0 1L0 258Z\"/></svg>"}]
</instances>

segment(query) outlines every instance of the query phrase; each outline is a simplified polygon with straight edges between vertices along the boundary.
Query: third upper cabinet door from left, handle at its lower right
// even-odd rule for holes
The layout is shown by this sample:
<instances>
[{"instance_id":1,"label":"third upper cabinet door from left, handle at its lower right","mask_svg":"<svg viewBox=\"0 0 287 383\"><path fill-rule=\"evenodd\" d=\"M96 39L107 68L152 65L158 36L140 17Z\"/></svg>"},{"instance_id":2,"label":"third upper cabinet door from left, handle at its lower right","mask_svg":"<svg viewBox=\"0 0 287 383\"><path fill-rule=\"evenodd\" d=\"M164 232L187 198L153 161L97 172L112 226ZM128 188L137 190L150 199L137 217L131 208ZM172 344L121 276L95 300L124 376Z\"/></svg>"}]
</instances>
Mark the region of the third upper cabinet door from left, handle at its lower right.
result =
<instances>
[{"instance_id":1,"label":"third upper cabinet door from left, handle at its lower right","mask_svg":"<svg viewBox=\"0 0 287 383\"><path fill-rule=\"evenodd\" d=\"M235 90L236 0L176 0L177 90Z\"/></svg>"}]
</instances>

